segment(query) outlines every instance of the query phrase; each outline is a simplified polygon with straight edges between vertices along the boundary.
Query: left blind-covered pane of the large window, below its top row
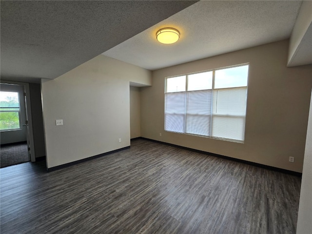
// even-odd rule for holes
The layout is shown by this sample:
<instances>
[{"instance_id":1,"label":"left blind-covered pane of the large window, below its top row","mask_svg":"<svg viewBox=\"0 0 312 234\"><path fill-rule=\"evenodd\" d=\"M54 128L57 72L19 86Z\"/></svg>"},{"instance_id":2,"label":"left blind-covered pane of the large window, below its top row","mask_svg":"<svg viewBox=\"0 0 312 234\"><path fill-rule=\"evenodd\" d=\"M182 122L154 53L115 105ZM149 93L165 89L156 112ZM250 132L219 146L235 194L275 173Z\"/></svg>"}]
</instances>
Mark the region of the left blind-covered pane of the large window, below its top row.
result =
<instances>
[{"instance_id":1,"label":"left blind-covered pane of the large window, below its top row","mask_svg":"<svg viewBox=\"0 0 312 234\"><path fill-rule=\"evenodd\" d=\"M184 133L185 93L165 94L165 130Z\"/></svg>"}]
</instances>

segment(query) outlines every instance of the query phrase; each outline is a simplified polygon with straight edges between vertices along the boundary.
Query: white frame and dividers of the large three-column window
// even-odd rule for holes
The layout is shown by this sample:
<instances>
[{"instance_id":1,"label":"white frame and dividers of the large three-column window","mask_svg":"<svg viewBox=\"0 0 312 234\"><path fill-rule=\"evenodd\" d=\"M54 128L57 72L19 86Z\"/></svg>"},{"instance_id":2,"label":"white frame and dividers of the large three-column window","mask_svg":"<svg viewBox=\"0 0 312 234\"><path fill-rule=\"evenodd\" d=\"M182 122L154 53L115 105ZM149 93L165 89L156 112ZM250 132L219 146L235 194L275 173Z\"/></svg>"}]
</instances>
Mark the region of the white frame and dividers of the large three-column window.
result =
<instances>
[{"instance_id":1,"label":"white frame and dividers of the large three-column window","mask_svg":"<svg viewBox=\"0 0 312 234\"><path fill-rule=\"evenodd\" d=\"M235 67L241 67L241 66L246 66L248 65L248 71L247 71L247 84L246 86L237 86L237 87L225 87L225 88L215 88L215 71L218 70L223 70L223 69L228 69L228 68L235 68ZM186 74L181 74L177 76L170 76L170 77L165 77L165 89L164 89L164 97L165 97L165 103L164 103L164 131L166 132L171 132L171 133L178 133L178 134L186 134L186 135L191 135L191 136L198 136L198 137L207 137L207 138L213 138L213 139L219 139L219 140L224 140L224 141L231 141L231 142L237 142L237 143L244 143L245 142L245 129L246 129L246 117L247 117L247 97L248 97L248 82L249 82L249 69L250 69L250 63L242 63L242 64L237 64L233 66L226 66L226 67L220 67L220 68L215 68L215 69L210 69L210 70L204 70L204 71L199 71L199 72L193 72L193 73L186 73ZM202 89L202 90L188 90L188 76L194 75L194 74L200 74L200 73L206 73L206 72L213 72L212 73L212 88L211 89ZM185 76L185 91L178 91L178 92L167 92L167 80L169 78L176 78L176 77L182 77ZM213 96L214 96L214 91L215 90L224 90L224 89L234 89L234 88L246 88L246 105L245 105L245 115L223 115L223 114L214 114L213 113ZM186 118L187 118L187 97L189 92L196 92L196 91L205 91L205 90L211 90L211 114L210 114L210 129L209 129L209 136L205 135L198 135L198 134L192 134L192 133L187 133L186 132ZM175 132L175 131L168 131L166 130L166 94L170 93L185 93L185 112L184 112L184 132ZM244 124L243 124L243 139L232 139L232 138L224 138L224 137L214 137L212 136L213 133L213 121L214 117L239 117L243 118Z\"/></svg>"}]
</instances>

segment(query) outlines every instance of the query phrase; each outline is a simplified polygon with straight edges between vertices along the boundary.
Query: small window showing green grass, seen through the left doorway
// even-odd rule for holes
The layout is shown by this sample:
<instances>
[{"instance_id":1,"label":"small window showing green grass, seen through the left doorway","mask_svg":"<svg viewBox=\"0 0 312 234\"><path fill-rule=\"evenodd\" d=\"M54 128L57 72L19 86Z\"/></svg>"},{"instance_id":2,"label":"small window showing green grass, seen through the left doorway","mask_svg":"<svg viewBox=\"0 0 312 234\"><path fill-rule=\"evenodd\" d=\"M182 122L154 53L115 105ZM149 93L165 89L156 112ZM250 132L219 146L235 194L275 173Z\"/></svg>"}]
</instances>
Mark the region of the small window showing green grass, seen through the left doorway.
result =
<instances>
[{"instance_id":1,"label":"small window showing green grass, seen through the left doorway","mask_svg":"<svg viewBox=\"0 0 312 234\"><path fill-rule=\"evenodd\" d=\"M0 131L21 128L19 100L18 92L0 91Z\"/></svg>"}]
</instances>

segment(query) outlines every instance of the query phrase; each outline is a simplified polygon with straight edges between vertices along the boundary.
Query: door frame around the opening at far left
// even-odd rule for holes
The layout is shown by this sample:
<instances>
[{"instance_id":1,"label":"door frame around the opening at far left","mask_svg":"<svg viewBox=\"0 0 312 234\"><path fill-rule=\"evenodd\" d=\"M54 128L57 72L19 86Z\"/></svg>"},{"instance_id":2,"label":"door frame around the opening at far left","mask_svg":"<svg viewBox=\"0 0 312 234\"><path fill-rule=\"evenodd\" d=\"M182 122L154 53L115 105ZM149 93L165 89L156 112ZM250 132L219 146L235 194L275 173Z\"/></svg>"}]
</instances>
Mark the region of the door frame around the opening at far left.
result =
<instances>
[{"instance_id":1,"label":"door frame around the opening at far left","mask_svg":"<svg viewBox=\"0 0 312 234\"><path fill-rule=\"evenodd\" d=\"M32 162L36 161L35 155L35 143L34 143L34 133L33 133L33 118L31 115L31 103L30 103L30 91L29 91L29 83L18 82L18 81L9 81L9 80L0 80L0 83L3 84L16 84L16 85L23 85L25 87L25 94L26 94L26 114L28 120L28 140L29 140L29 147L30 147L30 160Z\"/></svg>"}]
</instances>

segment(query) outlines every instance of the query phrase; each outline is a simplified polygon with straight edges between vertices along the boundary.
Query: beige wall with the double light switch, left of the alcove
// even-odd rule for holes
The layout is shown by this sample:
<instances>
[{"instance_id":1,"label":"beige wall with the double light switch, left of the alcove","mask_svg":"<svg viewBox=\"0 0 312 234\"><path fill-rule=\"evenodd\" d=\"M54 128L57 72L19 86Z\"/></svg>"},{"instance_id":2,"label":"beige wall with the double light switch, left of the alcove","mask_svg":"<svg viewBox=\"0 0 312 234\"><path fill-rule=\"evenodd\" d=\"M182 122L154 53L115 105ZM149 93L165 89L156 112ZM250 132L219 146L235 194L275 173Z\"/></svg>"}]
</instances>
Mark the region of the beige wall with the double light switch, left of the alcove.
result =
<instances>
[{"instance_id":1,"label":"beige wall with the double light switch, left of the alcove","mask_svg":"<svg viewBox=\"0 0 312 234\"><path fill-rule=\"evenodd\" d=\"M102 55L41 80L48 168L130 145L129 81L151 85L151 72Z\"/></svg>"}]
</instances>

